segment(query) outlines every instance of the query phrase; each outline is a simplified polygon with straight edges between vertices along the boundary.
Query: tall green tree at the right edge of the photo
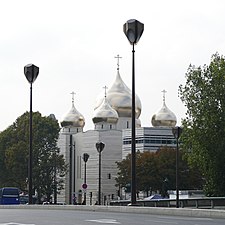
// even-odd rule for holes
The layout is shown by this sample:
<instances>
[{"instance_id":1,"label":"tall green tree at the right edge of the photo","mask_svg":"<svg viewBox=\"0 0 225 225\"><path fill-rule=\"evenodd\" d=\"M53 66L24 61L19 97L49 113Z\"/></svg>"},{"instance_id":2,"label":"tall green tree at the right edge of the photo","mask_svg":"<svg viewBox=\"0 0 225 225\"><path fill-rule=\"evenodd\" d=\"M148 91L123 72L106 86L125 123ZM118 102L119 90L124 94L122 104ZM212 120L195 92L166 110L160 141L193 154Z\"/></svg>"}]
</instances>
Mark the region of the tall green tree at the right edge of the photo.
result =
<instances>
[{"instance_id":1,"label":"tall green tree at the right edge of the photo","mask_svg":"<svg viewBox=\"0 0 225 225\"><path fill-rule=\"evenodd\" d=\"M179 95L187 107L182 148L199 167L209 196L225 196L225 59L218 53L210 65L190 65Z\"/></svg>"}]
</instances>

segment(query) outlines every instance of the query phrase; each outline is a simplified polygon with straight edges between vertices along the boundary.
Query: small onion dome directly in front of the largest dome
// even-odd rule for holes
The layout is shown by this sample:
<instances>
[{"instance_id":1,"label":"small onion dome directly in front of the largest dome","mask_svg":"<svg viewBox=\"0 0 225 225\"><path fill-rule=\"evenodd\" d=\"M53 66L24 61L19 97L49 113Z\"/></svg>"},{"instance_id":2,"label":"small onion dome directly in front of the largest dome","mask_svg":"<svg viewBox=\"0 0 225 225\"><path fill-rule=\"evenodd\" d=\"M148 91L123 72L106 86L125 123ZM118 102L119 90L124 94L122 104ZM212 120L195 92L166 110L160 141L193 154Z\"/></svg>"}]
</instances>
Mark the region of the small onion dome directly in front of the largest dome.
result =
<instances>
[{"instance_id":1,"label":"small onion dome directly in front of the largest dome","mask_svg":"<svg viewBox=\"0 0 225 225\"><path fill-rule=\"evenodd\" d=\"M107 122L107 123L117 123L118 113L113 109L107 101L107 98L103 100L102 104L95 109L94 116L92 118L93 122Z\"/></svg>"}]
</instances>

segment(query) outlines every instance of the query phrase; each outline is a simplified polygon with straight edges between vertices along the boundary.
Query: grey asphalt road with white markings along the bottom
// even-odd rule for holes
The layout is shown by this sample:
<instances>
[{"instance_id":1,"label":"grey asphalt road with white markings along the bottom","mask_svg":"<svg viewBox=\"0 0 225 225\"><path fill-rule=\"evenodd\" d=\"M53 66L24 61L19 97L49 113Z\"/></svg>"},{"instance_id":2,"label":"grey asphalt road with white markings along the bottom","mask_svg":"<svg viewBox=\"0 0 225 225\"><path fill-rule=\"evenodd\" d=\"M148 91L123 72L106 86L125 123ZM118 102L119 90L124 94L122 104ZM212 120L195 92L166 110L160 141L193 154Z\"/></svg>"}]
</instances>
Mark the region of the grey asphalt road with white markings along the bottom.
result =
<instances>
[{"instance_id":1,"label":"grey asphalt road with white markings along the bottom","mask_svg":"<svg viewBox=\"0 0 225 225\"><path fill-rule=\"evenodd\" d=\"M77 210L0 209L0 225L224 225L225 219Z\"/></svg>"}]
</instances>

